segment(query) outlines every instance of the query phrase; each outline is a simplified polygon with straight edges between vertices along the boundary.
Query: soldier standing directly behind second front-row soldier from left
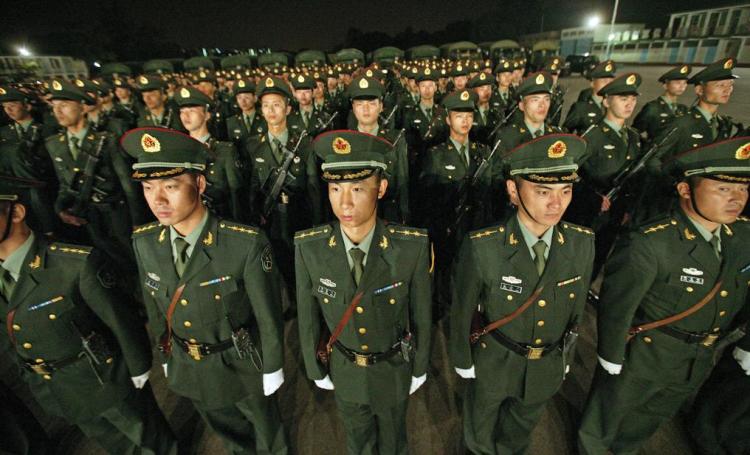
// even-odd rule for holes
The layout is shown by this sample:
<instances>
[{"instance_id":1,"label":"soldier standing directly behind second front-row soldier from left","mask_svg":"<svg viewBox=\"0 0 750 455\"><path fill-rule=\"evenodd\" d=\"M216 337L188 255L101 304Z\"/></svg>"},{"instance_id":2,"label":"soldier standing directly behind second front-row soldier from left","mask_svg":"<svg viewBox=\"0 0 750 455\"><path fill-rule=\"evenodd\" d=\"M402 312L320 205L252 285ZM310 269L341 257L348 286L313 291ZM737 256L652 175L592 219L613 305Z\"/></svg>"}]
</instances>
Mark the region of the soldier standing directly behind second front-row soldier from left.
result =
<instances>
[{"instance_id":1,"label":"soldier standing directly behind second front-row soldier from left","mask_svg":"<svg viewBox=\"0 0 750 455\"><path fill-rule=\"evenodd\" d=\"M248 185L237 149L231 142L217 140L208 129L214 104L194 87L181 88L175 102L184 128L206 146L208 170L206 191L202 195L206 205L219 217L249 221Z\"/></svg>"}]
</instances>

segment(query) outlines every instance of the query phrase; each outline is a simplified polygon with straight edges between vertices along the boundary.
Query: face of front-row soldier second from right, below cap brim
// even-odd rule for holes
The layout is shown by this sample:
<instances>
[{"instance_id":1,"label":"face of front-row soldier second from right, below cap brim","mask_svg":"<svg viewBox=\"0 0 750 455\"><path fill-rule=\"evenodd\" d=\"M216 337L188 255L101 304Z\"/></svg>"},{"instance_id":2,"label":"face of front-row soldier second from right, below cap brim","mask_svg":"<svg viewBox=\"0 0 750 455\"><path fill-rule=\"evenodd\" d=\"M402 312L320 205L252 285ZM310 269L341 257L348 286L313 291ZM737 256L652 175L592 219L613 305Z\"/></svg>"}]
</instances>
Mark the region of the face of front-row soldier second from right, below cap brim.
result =
<instances>
[{"instance_id":1,"label":"face of front-row soldier second from right, below cap brim","mask_svg":"<svg viewBox=\"0 0 750 455\"><path fill-rule=\"evenodd\" d=\"M544 232L560 222L573 199L571 183L535 183L528 180L507 180L510 201L518 207L518 214L532 231ZM523 199L523 204L521 204Z\"/></svg>"}]
</instances>

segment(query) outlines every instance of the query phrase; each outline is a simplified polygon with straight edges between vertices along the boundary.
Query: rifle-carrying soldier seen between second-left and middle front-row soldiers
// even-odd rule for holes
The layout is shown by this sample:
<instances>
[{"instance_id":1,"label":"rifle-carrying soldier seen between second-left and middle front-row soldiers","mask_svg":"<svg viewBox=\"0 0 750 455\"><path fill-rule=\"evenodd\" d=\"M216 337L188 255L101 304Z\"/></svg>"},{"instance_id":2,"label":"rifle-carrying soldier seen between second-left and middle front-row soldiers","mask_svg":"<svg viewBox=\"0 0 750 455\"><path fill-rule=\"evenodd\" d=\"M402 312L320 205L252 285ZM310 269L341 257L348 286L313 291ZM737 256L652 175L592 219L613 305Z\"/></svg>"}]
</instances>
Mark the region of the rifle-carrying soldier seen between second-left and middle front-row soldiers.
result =
<instances>
[{"instance_id":1,"label":"rifle-carrying soldier seen between second-left and middle front-row soldiers","mask_svg":"<svg viewBox=\"0 0 750 455\"><path fill-rule=\"evenodd\" d=\"M251 210L271 240L287 290L294 292L294 233L323 219L317 161L310 138L287 126L292 99L287 83L268 76L258 84L256 96L268 133L245 143L252 166ZM281 172L284 163L286 178Z\"/></svg>"}]
</instances>

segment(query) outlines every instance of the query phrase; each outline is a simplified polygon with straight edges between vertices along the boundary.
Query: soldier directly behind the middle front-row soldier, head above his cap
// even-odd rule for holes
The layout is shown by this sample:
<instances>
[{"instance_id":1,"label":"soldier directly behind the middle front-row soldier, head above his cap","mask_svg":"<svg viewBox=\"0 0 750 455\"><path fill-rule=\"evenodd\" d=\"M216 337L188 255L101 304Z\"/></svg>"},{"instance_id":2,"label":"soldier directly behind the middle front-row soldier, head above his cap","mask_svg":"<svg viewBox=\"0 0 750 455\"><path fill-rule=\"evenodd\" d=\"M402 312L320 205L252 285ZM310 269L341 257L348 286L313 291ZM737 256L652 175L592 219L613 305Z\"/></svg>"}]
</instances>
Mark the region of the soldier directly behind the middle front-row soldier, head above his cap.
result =
<instances>
[{"instance_id":1,"label":"soldier directly behind the middle front-row soldier, head above his cap","mask_svg":"<svg viewBox=\"0 0 750 455\"><path fill-rule=\"evenodd\" d=\"M385 155L388 192L378 204L378 216L393 223L406 223L411 217L406 138L402 131L389 129L379 123L385 95L383 84L375 78L361 76L349 84L347 93L352 102L356 129L362 133L381 137L392 145Z\"/></svg>"}]
</instances>

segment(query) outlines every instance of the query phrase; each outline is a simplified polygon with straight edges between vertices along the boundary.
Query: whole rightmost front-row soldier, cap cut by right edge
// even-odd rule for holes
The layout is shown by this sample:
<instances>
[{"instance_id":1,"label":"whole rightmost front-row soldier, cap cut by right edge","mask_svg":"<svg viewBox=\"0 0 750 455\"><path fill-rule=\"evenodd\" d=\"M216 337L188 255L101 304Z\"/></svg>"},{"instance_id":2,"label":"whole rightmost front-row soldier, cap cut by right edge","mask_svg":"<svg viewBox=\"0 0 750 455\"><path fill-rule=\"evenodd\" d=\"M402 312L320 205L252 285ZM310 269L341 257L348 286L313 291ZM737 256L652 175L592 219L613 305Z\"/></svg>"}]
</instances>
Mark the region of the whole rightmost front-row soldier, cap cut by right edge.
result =
<instances>
[{"instance_id":1,"label":"whole rightmost front-row soldier, cap cut by right edge","mask_svg":"<svg viewBox=\"0 0 750 455\"><path fill-rule=\"evenodd\" d=\"M676 182L675 208L621 238L604 268L584 454L637 453L698 391L717 351L738 341L750 280L750 223L738 218L750 137L684 152L665 173Z\"/></svg>"}]
</instances>

